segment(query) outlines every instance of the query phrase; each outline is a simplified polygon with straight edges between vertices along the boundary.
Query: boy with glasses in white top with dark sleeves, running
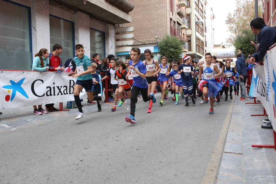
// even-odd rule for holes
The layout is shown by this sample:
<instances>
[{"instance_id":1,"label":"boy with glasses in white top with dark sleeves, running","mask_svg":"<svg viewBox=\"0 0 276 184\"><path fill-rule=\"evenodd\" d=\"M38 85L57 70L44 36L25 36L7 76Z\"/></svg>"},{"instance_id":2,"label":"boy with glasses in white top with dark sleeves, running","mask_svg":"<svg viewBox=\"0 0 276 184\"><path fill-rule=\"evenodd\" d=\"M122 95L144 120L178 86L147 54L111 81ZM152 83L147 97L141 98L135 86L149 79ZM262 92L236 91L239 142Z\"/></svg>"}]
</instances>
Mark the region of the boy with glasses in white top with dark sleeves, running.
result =
<instances>
[{"instance_id":1,"label":"boy with glasses in white top with dark sleeves, running","mask_svg":"<svg viewBox=\"0 0 276 184\"><path fill-rule=\"evenodd\" d=\"M115 73L118 69L116 67L116 59L115 58L110 59L110 65L111 65L111 68L107 71L106 75L101 80L103 81L110 76L110 83L112 85L113 95L114 95L114 105L113 105L111 111L114 112L114 111L116 111L116 105L118 102L118 79L115 79Z\"/></svg>"}]
</instances>

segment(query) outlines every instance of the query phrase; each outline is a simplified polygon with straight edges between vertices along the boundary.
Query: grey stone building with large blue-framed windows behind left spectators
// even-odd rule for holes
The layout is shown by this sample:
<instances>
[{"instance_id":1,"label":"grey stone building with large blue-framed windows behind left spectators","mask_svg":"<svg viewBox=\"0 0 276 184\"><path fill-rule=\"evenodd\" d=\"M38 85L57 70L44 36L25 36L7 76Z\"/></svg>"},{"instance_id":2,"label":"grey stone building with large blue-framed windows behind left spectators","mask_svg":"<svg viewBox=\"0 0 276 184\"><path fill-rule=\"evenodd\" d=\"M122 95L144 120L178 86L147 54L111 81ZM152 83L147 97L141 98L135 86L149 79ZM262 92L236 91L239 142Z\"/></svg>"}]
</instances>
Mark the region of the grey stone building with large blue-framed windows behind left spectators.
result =
<instances>
[{"instance_id":1,"label":"grey stone building with large blue-framed windows behind left spectators","mask_svg":"<svg viewBox=\"0 0 276 184\"><path fill-rule=\"evenodd\" d=\"M115 25L131 22L133 8L132 0L0 0L1 69L31 70L35 53L54 44L63 63L75 44L90 58L115 54Z\"/></svg>"}]
</instances>

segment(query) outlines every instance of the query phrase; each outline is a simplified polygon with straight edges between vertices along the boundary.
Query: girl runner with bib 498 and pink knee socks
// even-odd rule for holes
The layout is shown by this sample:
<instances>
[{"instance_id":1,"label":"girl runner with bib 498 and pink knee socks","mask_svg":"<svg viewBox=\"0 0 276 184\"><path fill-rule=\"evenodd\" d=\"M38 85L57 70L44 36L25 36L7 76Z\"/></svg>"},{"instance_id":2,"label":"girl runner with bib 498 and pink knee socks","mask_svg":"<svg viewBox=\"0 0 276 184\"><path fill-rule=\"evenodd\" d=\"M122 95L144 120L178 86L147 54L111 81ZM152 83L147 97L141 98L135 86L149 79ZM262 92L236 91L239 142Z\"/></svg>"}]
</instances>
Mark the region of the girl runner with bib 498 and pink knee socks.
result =
<instances>
[{"instance_id":1,"label":"girl runner with bib 498 and pink knee socks","mask_svg":"<svg viewBox=\"0 0 276 184\"><path fill-rule=\"evenodd\" d=\"M154 93L156 90L157 85L157 74L161 70L158 61L153 59L153 55L151 54L150 49L146 49L144 51L146 60L143 61L145 67L146 67L146 79L148 82L148 95L150 93ZM157 70L156 70L157 69ZM151 107L152 107L152 100L149 101L148 106L148 113L151 113Z\"/></svg>"}]
</instances>

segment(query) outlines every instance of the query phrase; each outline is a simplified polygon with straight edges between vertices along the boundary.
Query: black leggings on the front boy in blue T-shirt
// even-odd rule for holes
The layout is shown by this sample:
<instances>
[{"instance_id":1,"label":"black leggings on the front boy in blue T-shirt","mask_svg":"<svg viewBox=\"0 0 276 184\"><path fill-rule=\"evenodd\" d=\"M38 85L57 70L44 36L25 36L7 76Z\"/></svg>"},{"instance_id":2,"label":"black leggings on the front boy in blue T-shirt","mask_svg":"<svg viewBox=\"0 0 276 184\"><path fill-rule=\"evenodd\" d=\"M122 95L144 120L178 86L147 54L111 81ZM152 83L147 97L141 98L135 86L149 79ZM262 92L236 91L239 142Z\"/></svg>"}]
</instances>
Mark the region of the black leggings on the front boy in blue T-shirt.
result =
<instances>
[{"instance_id":1,"label":"black leggings on the front boy in blue T-shirt","mask_svg":"<svg viewBox=\"0 0 276 184\"><path fill-rule=\"evenodd\" d=\"M148 88L140 88L137 86L132 86L131 90L131 98L130 98L130 115L135 115L135 106L136 106L136 98L139 93L139 91L142 94L142 98L144 102L148 102L149 100L152 100L152 96L148 95Z\"/></svg>"}]
</instances>

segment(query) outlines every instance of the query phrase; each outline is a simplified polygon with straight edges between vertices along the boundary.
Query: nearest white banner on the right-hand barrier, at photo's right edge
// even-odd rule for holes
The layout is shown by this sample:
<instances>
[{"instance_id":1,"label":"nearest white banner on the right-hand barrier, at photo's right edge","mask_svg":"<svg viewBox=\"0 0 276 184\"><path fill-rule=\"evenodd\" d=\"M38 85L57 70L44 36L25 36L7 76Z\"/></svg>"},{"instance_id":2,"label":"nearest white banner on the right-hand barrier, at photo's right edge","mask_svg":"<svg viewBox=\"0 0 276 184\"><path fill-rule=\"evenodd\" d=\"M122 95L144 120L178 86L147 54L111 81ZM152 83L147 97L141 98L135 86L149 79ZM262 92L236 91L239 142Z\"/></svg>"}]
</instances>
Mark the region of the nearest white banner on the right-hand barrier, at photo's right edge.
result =
<instances>
[{"instance_id":1,"label":"nearest white banner on the right-hand barrier, at photo's right edge","mask_svg":"<svg viewBox=\"0 0 276 184\"><path fill-rule=\"evenodd\" d=\"M267 108L269 120L274 131L276 131L276 47L268 51L264 57L264 68L266 76Z\"/></svg>"}]
</instances>

